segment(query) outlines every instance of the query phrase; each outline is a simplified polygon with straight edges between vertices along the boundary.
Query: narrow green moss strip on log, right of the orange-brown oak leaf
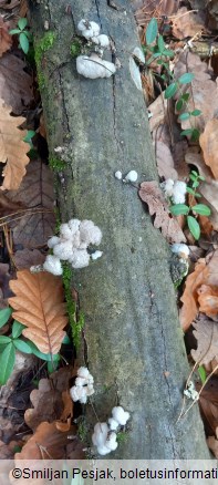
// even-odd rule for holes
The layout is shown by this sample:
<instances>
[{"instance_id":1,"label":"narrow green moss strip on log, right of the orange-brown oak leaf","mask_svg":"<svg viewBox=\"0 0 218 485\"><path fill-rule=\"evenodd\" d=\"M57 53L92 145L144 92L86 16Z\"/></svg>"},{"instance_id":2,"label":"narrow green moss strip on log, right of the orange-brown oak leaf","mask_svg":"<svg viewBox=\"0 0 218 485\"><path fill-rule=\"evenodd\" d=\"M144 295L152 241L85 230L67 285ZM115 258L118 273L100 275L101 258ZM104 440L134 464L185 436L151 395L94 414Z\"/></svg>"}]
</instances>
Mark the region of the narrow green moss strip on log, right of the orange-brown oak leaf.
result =
<instances>
[{"instance_id":1,"label":"narrow green moss strip on log, right of the orange-brown oak leaf","mask_svg":"<svg viewBox=\"0 0 218 485\"><path fill-rule=\"evenodd\" d=\"M81 333L84 328L85 319L83 313L80 313L79 320L76 318L77 317L76 305L72 298L72 290L71 290L72 270L68 262L63 262L62 267L63 267L63 286L65 291L69 322L71 327L73 344L75 347L75 350L77 351L81 345Z\"/></svg>"}]
</instances>

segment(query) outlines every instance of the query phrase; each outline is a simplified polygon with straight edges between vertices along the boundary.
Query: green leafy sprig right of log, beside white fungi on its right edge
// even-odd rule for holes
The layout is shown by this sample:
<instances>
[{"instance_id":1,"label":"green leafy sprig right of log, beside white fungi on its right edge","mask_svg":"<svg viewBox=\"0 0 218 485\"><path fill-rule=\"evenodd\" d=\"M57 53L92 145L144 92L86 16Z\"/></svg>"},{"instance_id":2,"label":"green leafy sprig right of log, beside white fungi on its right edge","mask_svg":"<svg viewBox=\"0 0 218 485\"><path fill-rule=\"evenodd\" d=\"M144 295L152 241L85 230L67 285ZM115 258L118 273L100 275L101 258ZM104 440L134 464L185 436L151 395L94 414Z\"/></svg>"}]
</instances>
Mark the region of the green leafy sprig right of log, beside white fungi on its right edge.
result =
<instances>
[{"instance_id":1,"label":"green leafy sprig right of log, beside white fungi on its right edge","mask_svg":"<svg viewBox=\"0 0 218 485\"><path fill-rule=\"evenodd\" d=\"M205 177L199 175L197 172L191 171L189 175L190 187L187 187L187 192L191 194L195 198L200 198L201 195L197 192L200 182L205 180ZM186 204L175 204L170 206L170 213L174 216L179 216L180 214L187 216L188 228L195 239L200 237L200 226L196 219L196 215L209 216L210 208L205 204L196 204L195 206L188 206Z\"/></svg>"}]
</instances>

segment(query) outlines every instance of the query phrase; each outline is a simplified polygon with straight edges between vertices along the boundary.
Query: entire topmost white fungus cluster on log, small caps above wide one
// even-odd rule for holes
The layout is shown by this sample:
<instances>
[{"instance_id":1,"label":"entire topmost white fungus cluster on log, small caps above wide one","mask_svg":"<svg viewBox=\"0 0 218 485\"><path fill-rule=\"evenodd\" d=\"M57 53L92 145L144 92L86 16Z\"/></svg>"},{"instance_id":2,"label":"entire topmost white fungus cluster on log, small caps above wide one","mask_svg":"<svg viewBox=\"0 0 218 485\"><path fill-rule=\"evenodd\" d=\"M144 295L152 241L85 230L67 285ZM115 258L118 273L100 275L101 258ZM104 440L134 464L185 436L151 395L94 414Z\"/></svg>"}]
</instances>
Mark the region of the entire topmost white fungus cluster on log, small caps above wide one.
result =
<instances>
[{"instance_id":1,"label":"entire topmost white fungus cluster on log, small caps above wide one","mask_svg":"<svg viewBox=\"0 0 218 485\"><path fill-rule=\"evenodd\" d=\"M115 64L102 59L104 49L110 48L110 39L105 34L100 34L100 25L96 22L82 19L77 24L77 30L91 44L95 45L95 52L76 58L77 73L89 79L111 78L115 74Z\"/></svg>"}]
</instances>

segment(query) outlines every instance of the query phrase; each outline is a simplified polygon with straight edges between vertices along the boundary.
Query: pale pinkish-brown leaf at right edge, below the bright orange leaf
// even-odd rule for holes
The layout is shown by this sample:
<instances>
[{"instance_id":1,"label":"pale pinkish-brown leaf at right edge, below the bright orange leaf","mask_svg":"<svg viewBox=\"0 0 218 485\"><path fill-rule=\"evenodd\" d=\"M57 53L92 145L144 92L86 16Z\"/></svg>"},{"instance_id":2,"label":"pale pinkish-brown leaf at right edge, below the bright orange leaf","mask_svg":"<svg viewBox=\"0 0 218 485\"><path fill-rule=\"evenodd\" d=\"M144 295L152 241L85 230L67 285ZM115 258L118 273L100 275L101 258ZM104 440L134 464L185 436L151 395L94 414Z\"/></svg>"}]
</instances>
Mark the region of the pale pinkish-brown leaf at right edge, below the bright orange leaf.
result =
<instances>
[{"instance_id":1,"label":"pale pinkish-brown leaf at right edge, below the bright orange leaf","mask_svg":"<svg viewBox=\"0 0 218 485\"><path fill-rule=\"evenodd\" d=\"M191 357L200 365L207 365L212 359L218 358L218 324L200 314L197 321L193 322L193 327L197 349L191 350Z\"/></svg>"}]
</instances>

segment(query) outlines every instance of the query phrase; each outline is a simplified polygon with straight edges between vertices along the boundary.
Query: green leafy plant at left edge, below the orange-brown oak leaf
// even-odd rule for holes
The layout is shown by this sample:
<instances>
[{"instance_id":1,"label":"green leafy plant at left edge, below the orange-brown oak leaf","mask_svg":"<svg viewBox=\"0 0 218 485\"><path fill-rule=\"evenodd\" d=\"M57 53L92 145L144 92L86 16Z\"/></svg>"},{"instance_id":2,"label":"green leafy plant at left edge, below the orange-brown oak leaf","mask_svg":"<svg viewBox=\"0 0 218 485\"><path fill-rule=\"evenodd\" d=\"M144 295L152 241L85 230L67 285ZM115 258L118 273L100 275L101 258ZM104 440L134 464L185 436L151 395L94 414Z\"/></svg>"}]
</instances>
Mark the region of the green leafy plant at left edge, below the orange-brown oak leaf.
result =
<instances>
[{"instance_id":1,"label":"green leafy plant at left edge, below the orange-brown oak leaf","mask_svg":"<svg viewBox=\"0 0 218 485\"><path fill-rule=\"evenodd\" d=\"M0 328L2 328L8 322L11 313L11 308L0 310ZM33 353L39 359L45 361L49 373L53 372L59 365L61 359L61 355L59 353L55 355L51 355L50 353L42 353L33 342L31 342L30 340L24 340L21 337L22 330L24 328L25 326L18 322L17 320L13 320L11 334L9 337L0 336L0 385L6 384L12 373L15 362L15 350L19 350L22 353ZM70 339L68 336L65 336L62 343L70 343Z\"/></svg>"}]
</instances>

